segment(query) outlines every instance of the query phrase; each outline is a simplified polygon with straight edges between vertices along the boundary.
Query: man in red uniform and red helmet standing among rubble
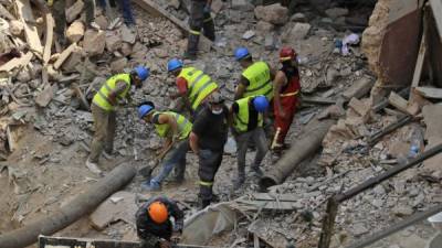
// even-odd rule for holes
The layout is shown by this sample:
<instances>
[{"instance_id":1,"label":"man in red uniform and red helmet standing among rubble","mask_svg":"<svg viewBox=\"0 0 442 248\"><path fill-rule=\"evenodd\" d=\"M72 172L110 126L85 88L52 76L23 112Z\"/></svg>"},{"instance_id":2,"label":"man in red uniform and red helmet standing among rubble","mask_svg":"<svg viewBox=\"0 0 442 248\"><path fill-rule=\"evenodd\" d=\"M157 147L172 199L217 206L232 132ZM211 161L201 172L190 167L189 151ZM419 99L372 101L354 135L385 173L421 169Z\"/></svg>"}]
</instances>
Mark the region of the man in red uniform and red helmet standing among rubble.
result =
<instances>
[{"instance_id":1,"label":"man in red uniform and red helmet standing among rubble","mask_svg":"<svg viewBox=\"0 0 442 248\"><path fill-rule=\"evenodd\" d=\"M298 94L301 90L295 50L288 46L283 47L280 52L280 62L282 67L274 79L275 143L272 147L274 150L286 147L284 140L299 104Z\"/></svg>"}]
</instances>

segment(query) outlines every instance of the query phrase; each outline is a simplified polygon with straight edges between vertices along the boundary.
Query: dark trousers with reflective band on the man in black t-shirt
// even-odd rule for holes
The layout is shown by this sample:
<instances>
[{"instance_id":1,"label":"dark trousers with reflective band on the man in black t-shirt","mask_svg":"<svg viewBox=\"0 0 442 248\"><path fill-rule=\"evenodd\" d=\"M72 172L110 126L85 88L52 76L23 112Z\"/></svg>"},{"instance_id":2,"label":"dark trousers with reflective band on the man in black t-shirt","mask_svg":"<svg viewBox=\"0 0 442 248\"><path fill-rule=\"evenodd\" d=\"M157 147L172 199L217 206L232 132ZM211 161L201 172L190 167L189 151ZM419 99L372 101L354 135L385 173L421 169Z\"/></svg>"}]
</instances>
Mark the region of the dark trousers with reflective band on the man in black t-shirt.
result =
<instances>
[{"instance_id":1,"label":"dark trousers with reflective band on the man in black t-shirt","mask_svg":"<svg viewBox=\"0 0 442 248\"><path fill-rule=\"evenodd\" d=\"M201 201L201 207L208 206L213 200L213 182L217 175L218 169L220 169L223 150L211 151L200 150L199 162L200 168L198 175L200 177L200 193L198 197Z\"/></svg>"}]
</instances>

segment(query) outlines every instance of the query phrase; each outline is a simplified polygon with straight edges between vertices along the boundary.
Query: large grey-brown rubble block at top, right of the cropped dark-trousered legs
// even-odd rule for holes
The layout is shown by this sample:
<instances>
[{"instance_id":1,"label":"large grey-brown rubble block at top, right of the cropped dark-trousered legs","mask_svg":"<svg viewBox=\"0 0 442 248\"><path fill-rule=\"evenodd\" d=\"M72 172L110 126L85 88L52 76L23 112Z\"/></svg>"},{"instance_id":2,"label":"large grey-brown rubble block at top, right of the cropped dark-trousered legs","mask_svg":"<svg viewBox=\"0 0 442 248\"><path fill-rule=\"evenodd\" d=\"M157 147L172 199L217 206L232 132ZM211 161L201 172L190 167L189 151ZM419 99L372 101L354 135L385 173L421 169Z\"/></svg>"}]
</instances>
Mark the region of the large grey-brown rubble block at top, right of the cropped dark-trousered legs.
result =
<instances>
[{"instance_id":1,"label":"large grey-brown rubble block at top, right of the cropped dark-trousered legs","mask_svg":"<svg viewBox=\"0 0 442 248\"><path fill-rule=\"evenodd\" d=\"M275 25L281 25L288 20L288 9L274 3L271 6L259 6L254 10L257 20L263 20Z\"/></svg>"}]
</instances>

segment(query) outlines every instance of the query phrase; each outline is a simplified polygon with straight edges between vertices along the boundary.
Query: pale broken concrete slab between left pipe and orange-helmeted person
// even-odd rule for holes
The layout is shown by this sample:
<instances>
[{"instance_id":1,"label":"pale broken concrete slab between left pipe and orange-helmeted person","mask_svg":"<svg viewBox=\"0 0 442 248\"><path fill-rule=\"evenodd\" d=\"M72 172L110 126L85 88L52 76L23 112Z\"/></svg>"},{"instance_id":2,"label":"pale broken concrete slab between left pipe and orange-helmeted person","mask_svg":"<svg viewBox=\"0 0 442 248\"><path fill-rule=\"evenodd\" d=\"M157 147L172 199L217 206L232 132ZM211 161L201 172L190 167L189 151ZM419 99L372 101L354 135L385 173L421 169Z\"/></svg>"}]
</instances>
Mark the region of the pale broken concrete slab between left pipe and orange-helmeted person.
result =
<instances>
[{"instance_id":1,"label":"pale broken concrete slab between left pipe and orange-helmeted person","mask_svg":"<svg viewBox=\"0 0 442 248\"><path fill-rule=\"evenodd\" d=\"M130 192L117 192L90 215L92 226L103 230L112 223L123 220L135 226L135 213L138 209L136 194Z\"/></svg>"}]
</instances>

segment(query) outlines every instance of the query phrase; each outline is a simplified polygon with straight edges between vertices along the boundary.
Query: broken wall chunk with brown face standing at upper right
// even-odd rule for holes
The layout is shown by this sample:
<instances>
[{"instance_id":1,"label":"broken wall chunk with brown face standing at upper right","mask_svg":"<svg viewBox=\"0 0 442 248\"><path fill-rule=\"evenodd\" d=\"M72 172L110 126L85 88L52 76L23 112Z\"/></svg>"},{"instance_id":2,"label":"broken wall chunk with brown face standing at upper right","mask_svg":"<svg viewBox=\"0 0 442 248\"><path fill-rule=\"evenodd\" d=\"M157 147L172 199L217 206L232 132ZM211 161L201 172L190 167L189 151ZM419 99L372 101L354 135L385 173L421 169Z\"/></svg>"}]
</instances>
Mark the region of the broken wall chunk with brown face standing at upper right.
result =
<instances>
[{"instance_id":1,"label":"broken wall chunk with brown face standing at upper right","mask_svg":"<svg viewBox=\"0 0 442 248\"><path fill-rule=\"evenodd\" d=\"M422 31L422 3L418 0L379 0L362 34L362 51L378 77L375 103L390 89L411 83Z\"/></svg>"}]
</instances>

